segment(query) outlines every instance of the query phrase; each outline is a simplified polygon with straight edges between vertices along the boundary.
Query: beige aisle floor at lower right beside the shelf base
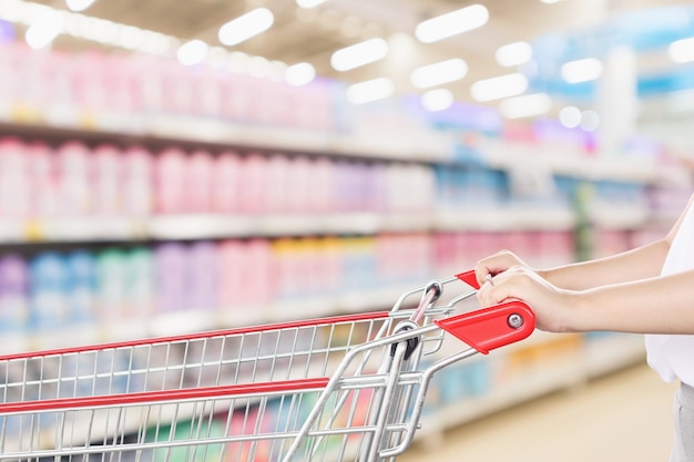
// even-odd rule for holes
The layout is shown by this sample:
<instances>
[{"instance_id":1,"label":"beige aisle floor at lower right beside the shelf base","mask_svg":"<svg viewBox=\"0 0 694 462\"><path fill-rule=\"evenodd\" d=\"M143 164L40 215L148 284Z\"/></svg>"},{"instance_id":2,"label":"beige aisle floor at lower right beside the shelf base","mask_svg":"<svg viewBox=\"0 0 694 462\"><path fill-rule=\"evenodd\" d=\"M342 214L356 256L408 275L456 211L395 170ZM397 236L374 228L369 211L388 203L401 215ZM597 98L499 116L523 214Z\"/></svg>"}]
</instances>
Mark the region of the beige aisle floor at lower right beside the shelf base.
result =
<instances>
[{"instance_id":1,"label":"beige aisle floor at lower right beside the shelf base","mask_svg":"<svg viewBox=\"0 0 694 462\"><path fill-rule=\"evenodd\" d=\"M637 366L416 442L398 462L666 462L676 387Z\"/></svg>"}]
</instances>

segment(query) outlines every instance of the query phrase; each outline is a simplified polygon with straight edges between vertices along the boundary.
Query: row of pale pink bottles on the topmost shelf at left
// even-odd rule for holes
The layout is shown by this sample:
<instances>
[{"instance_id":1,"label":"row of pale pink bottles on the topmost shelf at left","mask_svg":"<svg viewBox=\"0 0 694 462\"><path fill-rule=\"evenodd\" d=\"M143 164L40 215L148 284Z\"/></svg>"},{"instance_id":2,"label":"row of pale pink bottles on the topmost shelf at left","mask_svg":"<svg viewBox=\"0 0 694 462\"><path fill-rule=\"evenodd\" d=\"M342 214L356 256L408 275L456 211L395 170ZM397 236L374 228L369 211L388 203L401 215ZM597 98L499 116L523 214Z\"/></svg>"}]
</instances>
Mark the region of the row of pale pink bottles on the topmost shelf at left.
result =
<instances>
[{"instance_id":1,"label":"row of pale pink bottles on the topmost shelf at left","mask_svg":"<svg viewBox=\"0 0 694 462\"><path fill-rule=\"evenodd\" d=\"M334 130L331 85L290 86L173 58L32 50L0 44L0 117L75 127L140 130L151 115Z\"/></svg>"}]
</instances>

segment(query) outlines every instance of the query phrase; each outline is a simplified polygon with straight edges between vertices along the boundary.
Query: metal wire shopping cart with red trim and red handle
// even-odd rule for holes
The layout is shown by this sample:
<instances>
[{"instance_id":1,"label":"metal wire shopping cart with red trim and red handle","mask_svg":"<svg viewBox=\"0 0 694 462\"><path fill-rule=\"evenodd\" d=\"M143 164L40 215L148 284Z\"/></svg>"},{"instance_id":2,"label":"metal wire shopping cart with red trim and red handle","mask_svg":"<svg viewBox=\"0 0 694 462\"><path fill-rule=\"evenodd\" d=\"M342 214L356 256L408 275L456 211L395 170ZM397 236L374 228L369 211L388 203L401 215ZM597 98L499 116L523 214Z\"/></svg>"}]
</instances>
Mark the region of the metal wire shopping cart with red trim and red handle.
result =
<instances>
[{"instance_id":1,"label":"metal wire shopping cart with red trim and red handle","mask_svg":"<svg viewBox=\"0 0 694 462\"><path fill-rule=\"evenodd\" d=\"M534 329L522 301L453 316L478 288L468 271L390 311L0 357L0 460L392 461L437 371Z\"/></svg>"}]
</instances>

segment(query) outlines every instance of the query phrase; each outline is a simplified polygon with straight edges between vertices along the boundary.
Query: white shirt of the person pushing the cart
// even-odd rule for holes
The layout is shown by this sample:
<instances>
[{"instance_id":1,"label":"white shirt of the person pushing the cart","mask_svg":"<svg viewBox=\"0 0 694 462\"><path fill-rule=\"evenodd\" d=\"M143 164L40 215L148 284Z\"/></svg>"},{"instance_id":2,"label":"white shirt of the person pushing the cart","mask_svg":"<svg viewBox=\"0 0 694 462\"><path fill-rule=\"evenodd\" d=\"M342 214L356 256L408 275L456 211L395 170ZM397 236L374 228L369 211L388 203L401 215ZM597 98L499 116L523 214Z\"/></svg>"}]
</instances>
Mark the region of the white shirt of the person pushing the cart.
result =
<instances>
[{"instance_id":1,"label":"white shirt of the person pushing the cart","mask_svg":"<svg viewBox=\"0 0 694 462\"><path fill-rule=\"evenodd\" d=\"M671 275L691 268L694 268L694 207L682 220L661 274ZM694 387L694 336L647 335L645 345L649 366L663 380L681 380Z\"/></svg>"}]
</instances>

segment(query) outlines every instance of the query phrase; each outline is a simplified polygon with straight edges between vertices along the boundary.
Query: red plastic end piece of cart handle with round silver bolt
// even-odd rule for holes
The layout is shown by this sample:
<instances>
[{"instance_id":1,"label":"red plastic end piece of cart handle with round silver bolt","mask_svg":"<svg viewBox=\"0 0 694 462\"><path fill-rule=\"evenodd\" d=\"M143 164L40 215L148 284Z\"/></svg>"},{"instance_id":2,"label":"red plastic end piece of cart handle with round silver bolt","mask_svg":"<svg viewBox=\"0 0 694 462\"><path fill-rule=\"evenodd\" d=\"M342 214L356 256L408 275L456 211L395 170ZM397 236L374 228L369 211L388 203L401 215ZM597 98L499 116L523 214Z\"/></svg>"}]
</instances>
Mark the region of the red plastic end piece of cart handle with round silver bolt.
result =
<instances>
[{"instance_id":1,"label":"red plastic end piece of cart handle with round silver bolt","mask_svg":"<svg viewBox=\"0 0 694 462\"><path fill-rule=\"evenodd\" d=\"M435 322L484 355L527 338L535 328L532 309L520 300L507 301Z\"/></svg>"}]
</instances>

